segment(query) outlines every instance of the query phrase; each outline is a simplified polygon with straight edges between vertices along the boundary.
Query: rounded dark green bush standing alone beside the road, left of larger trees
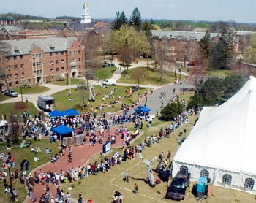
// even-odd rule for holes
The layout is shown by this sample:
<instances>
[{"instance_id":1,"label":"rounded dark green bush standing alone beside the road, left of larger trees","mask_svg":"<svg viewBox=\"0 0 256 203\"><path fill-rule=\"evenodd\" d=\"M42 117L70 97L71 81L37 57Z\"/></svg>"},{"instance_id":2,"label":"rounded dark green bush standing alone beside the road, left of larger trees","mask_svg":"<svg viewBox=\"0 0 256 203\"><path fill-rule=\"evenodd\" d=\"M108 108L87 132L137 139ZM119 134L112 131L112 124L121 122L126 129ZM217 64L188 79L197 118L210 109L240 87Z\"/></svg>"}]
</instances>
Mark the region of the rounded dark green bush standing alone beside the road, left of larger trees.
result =
<instances>
[{"instance_id":1,"label":"rounded dark green bush standing alone beside the road, left of larger trees","mask_svg":"<svg viewBox=\"0 0 256 203\"><path fill-rule=\"evenodd\" d=\"M163 120L173 120L173 118L176 118L181 112L183 112L182 104L180 102L173 102L167 104L160 113Z\"/></svg>"}]
</instances>

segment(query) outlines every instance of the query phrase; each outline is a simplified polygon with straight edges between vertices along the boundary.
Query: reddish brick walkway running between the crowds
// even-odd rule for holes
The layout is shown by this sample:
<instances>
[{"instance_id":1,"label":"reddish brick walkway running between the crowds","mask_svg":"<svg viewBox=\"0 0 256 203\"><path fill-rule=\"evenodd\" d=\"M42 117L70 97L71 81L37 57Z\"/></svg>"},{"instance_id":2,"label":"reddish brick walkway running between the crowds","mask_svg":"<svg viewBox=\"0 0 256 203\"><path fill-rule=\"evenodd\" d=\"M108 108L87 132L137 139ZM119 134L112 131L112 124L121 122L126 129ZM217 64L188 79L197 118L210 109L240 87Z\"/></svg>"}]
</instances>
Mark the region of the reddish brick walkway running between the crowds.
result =
<instances>
[{"instance_id":1,"label":"reddish brick walkway running between the crowds","mask_svg":"<svg viewBox=\"0 0 256 203\"><path fill-rule=\"evenodd\" d=\"M131 123L125 123L123 126L128 126ZM116 133L116 127L112 128L110 131L110 134L115 134ZM98 137L98 136L97 136ZM103 143L107 141L108 137L105 136L103 137ZM49 144L50 145L50 144ZM112 145L113 148L115 147L121 147L122 146L122 139L119 136L116 136L116 143ZM87 161L89 161L89 158L91 156L94 156L94 154L99 153L102 151L102 145L100 145L98 142L94 146L89 147L89 142L86 141L86 145L80 145L78 147L72 146L72 163L67 162L68 157L68 148L64 151L65 156L62 156L59 158L59 161L56 163L48 163L43 166L40 166L36 172L39 172L41 170L42 172L60 172L63 170L64 172L67 171L68 169L74 169L78 168L79 166L83 166L86 164ZM34 172L32 172L34 174ZM56 194L56 185L49 185L50 186L50 194L52 194L55 197ZM35 184L33 188L33 194L37 196L37 202L39 202L40 197L42 194L45 194L45 185L41 184ZM27 196L25 202L31 203L31 199L29 199L29 196Z\"/></svg>"}]
</instances>

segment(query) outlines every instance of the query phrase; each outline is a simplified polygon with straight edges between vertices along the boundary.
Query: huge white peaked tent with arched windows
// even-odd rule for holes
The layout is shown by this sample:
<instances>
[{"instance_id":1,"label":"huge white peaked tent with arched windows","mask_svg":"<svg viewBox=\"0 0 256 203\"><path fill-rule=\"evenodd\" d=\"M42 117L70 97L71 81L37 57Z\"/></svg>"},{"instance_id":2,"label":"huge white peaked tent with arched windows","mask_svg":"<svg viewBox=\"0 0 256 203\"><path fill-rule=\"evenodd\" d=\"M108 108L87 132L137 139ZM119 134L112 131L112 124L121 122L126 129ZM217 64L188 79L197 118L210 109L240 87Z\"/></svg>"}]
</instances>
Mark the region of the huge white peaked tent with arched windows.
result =
<instances>
[{"instance_id":1,"label":"huge white peaked tent with arched windows","mask_svg":"<svg viewBox=\"0 0 256 203\"><path fill-rule=\"evenodd\" d=\"M173 158L173 177L188 170L192 180L256 194L256 79L219 107L204 107Z\"/></svg>"}]
</instances>

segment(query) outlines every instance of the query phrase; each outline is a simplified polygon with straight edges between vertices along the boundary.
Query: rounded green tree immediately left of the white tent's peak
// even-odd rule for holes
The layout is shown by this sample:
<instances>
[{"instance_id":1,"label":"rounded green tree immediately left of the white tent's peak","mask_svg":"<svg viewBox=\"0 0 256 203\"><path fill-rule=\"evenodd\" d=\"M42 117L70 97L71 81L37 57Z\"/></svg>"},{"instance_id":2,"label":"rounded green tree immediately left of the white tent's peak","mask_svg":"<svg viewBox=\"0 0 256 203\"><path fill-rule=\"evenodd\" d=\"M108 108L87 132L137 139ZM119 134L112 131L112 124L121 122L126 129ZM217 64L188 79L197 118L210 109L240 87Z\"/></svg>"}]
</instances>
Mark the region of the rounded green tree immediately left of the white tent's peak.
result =
<instances>
[{"instance_id":1,"label":"rounded green tree immediately left of the white tent's peak","mask_svg":"<svg viewBox=\"0 0 256 203\"><path fill-rule=\"evenodd\" d=\"M229 74L223 80L223 98L230 99L246 83L246 77L241 74Z\"/></svg>"}]
</instances>

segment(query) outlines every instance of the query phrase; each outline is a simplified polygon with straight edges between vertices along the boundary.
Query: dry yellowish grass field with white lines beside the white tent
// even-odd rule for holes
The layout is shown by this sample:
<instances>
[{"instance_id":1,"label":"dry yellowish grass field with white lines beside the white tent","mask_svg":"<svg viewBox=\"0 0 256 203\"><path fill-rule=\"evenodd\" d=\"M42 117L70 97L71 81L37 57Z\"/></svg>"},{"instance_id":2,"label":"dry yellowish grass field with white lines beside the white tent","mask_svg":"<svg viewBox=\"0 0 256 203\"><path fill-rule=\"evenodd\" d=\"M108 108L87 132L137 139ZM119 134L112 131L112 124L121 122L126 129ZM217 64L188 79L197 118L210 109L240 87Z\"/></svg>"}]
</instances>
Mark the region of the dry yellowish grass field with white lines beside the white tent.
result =
<instances>
[{"instance_id":1,"label":"dry yellowish grass field with white lines beside the white tent","mask_svg":"<svg viewBox=\"0 0 256 203\"><path fill-rule=\"evenodd\" d=\"M178 128L178 130L170 134L170 138L166 138L160 141L159 144L154 144L152 147L148 147L143 151L143 158L151 159L154 156L159 156L159 153L164 152L165 156L167 155L167 151L170 150L172 153L171 158L175 155L176 151L179 148L178 142L180 141L181 137L178 136L180 131L187 129L187 134L192 129L192 125L195 123L196 116L189 117L189 124L184 124ZM159 129L165 128L170 123L154 121L154 125L151 129L143 128L144 134L135 140L132 145L138 144L144 137L156 134L159 132ZM132 126L130 127L132 128ZM185 137L187 136L185 135ZM114 149L114 152L119 151L121 154L123 152L120 148ZM96 156L89 160L89 163L94 163L94 161L100 161L102 157L98 153ZM155 169L158 164L158 161L154 161L152 163L152 168ZM129 173L129 183L124 182L124 172L128 171ZM167 191L167 183L160 183L156 185L155 188L150 188L146 183L144 183L144 179L146 178L146 164L143 164L140 161L140 158L137 157L134 160L130 160L127 162L122 162L121 165L114 166L110 172L102 174L99 172L99 175L89 175L88 178L84 180L67 183L66 185L61 185L61 188L64 191L68 191L72 199L78 199L78 194L81 192L83 194L83 200L87 200L91 198L93 202L111 202L113 200L113 192L116 190L121 191L124 196L124 202L145 202L145 203L155 203L155 202L162 202L168 203L173 202L171 200L165 199L165 194ZM154 178L157 178L157 175L154 174ZM104 185L102 185L104 183ZM138 185L139 194L132 193L134 189L135 183ZM191 184L192 186L192 184ZM72 190L68 190L68 188L72 187ZM84 189L86 188L86 190ZM196 203L197 200L195 196L191 193L190 187L187 189L187 195L184 201L180 202L192 202ZM97 192L96 192L97 191ZM213 192L213 189L211 190ZM216 187L215 196L210 196L207 199L209 203L223 203L223 202L236 202L235 194L236 191L229 190L226 188ZM252 194L246 194L240 192L240 202L253 202L254 196ZM203 200L202 202L206 202Z\"/></svg>"}]
</instances>

